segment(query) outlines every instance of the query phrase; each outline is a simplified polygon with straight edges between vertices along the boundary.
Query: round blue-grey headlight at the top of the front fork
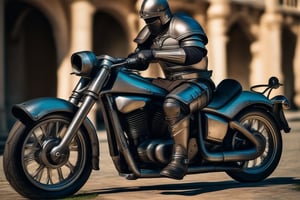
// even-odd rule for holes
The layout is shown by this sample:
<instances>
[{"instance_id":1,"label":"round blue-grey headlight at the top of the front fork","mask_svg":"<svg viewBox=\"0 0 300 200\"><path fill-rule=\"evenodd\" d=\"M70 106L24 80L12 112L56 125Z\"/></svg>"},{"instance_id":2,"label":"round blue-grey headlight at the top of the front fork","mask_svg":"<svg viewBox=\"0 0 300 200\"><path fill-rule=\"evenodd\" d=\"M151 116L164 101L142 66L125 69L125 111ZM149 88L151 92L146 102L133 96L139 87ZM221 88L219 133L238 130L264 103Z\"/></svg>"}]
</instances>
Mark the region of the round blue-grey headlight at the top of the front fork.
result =
<instances>
[{"instance_id":1,"label":"round blue-grey headlight at the top of the front fork","mask_svg":"<svg viewBox=\"0 0 300 200\"><path fill-rule=\"evenodd\" d=\"M98 59L93 52L81 51L71 56L73 74L77 76L91 77L97 67Z\"/></svg>"}]
</instances>

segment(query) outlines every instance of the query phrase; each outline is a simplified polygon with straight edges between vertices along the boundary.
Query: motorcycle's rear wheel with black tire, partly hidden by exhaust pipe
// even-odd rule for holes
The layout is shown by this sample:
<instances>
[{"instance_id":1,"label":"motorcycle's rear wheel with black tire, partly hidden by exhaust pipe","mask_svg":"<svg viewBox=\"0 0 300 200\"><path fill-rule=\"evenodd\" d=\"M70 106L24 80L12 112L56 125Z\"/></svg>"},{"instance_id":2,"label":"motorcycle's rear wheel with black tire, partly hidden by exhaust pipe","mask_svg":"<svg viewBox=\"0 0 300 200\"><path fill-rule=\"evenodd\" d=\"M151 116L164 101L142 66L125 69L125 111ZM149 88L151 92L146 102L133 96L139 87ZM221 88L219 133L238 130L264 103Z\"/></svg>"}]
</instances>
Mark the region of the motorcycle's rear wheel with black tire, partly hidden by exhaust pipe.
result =
<instances>
[{"instance_id":1,"label":"motorcycle's rear wheel with black tire, partly hidden by exhaust pipe","mask_svg":"<svg viewBox=\"0 0 300 200\"><path fill-rule=\"evenodd\" d=\"M266 140L265 151L254 160L238 162L241 171L227 171L226 173L239 182L258 182L267 178L276 169L282 154L282 135L270 114L260 109L249 109L236 118L251 132L260 133ZM236 132L232 137L235 148L238 141L242 141L241 134Z\"/></svg>"}]
</instances>

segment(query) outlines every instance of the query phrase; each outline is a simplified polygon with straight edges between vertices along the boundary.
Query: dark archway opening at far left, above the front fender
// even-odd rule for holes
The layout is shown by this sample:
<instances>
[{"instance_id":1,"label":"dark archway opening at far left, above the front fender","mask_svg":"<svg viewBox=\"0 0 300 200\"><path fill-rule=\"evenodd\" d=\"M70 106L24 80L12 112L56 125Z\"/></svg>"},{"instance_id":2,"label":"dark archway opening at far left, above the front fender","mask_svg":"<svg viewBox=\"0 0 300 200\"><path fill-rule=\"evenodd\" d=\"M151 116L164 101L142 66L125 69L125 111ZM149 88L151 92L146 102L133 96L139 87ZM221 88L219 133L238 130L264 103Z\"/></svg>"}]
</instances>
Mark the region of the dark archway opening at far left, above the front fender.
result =
<instances>
[{"instance_id":1,"label":"dark archway opening at far left, above the front fender","mask_svg":"<svg viewBox=\"0 0 300 200\"><path fill-rule=\"evenodd\" d=\"M41 96L55 96L57 59L52 27L35 7L5 4L6 106ZM8 110L8 124L14 119Z\"/></svg>"}]
</instances>

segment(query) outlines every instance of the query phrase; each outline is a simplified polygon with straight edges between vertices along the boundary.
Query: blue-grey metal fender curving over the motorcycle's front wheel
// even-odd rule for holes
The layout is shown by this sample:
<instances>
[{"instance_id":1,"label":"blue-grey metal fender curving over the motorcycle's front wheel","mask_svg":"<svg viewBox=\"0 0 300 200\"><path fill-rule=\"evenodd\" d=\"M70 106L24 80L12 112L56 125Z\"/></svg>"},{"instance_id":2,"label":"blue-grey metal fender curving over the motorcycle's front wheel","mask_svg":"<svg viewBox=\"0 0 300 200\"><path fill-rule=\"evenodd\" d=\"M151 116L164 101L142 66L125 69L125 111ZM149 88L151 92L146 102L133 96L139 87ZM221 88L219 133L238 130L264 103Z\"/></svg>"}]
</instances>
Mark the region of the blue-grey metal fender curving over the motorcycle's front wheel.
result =
<instances>
[{"instance_id":1,"label":"blue-grey metal fender curving over the motorcycle's front wheel","mask_svg":"<svg viewBox=\"0 0 300 200\"><path fill-rule=\"evenodd\" d=\"M16 104L12 108L12 114L20 120L23 124L32 123L40 120L41 118L53 114L53 113L67 113L74 115L78 107L64 99L54 97L44 97L38 99L32 99L20 104ZM89 139L92 145L93 154L93 169L99 169L99 141L97 132L91 123L86 118L83 122L83 126L86 129Z\"/></svg>"}]
</instances>

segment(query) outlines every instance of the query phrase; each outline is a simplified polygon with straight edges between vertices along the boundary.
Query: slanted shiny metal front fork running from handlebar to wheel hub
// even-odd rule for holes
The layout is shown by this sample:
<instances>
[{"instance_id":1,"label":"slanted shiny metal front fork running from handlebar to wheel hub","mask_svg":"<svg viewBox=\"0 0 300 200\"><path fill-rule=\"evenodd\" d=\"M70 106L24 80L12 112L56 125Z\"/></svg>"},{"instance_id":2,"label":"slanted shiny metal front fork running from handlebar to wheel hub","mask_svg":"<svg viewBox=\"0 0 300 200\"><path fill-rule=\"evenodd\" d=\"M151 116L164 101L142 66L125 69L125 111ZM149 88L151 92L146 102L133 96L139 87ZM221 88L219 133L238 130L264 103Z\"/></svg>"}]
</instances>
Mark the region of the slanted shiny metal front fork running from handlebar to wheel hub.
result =
<instances>
[{"instance_id":1,"label":"slanted shiny metal front fork running from handlebar to wheel hub","mask_svg":"<svg viewBox=\"0 0 300 200\"><path fill-rule=\"evenodd\" d=\"M53 161L59 160L59 158L63 155L64 150L68 148L69 144L75 137L78 129L80 128L81 124L85 120L86 116L98 100L99 93L106 81L106 78L109 76L109 67L108 66L102 66L102 68L98 71L98 74L95 76L94 79L92 79L90 85L85 90L85 97L82 101L81 106L77 110L74 118L72 119L68 129L66 130L66 133L64 134L64 137L62 138L61 142L53 147L53 149L50 152L51 159ZM70 102L74 104L79 103L79 97L80 97L80 89L84 87L87 82L87 80L84 80L84 78L81 78L79 83L77 84L76 88L73 91L72 96L70 97Z\"/></svg>"}]
</instances>

